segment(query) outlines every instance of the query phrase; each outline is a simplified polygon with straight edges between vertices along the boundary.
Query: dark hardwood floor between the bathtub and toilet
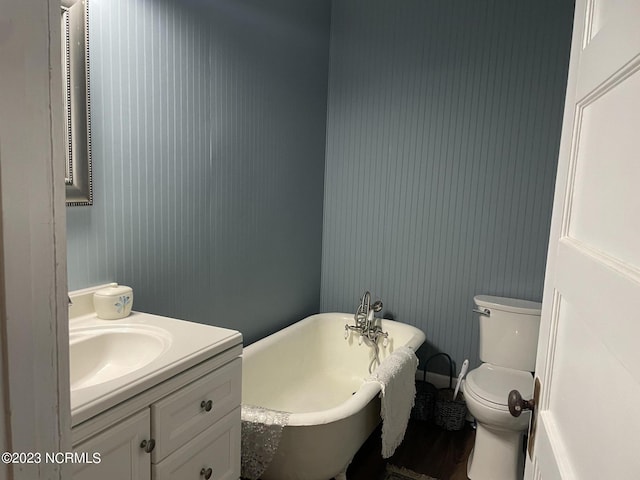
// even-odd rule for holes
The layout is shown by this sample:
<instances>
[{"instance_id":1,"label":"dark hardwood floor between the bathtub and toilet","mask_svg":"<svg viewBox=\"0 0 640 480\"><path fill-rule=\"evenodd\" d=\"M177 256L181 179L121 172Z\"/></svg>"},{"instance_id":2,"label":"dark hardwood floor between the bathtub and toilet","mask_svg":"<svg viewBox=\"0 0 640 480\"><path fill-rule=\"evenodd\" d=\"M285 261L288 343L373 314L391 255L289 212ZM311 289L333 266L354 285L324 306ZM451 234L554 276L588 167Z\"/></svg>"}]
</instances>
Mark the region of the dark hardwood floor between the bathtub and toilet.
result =
<instances>
[{"instance_id":1,"label":"dark hardwood floor between the bathtub and toilet","mask_svg":"<svg viewBox=\"0 0 640 480\"><path fill-rule=\"evenodd\" d=\"M402 444L387 460L380 454L380 432L378 427L354 457L347 470L349 480L381 480L387 463L439 480L467 480L467 459L475 438L471 426L448 432L432 424L409 420Z\"/></svg>"}]
</instances>

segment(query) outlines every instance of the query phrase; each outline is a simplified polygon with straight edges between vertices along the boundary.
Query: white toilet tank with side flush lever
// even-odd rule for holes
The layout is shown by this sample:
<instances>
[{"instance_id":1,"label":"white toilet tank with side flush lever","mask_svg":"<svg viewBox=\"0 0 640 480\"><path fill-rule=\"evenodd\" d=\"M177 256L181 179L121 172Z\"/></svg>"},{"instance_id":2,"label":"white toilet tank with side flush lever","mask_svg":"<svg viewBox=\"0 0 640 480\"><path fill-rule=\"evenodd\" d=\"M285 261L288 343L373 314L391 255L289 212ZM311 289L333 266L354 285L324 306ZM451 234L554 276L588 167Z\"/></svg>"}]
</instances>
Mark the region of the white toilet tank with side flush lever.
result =
<instances>
[{"instance_id":1,"label":"white toilet tank with side flush lever","mask_svg":"<svg viewBox=\"0 0 640 480\"><path fill-rule=\"evenodd\" d=\"M480 360L533 372L542 304L516 298L476 295L480 319Z\"/></svg>"}]
</instances>

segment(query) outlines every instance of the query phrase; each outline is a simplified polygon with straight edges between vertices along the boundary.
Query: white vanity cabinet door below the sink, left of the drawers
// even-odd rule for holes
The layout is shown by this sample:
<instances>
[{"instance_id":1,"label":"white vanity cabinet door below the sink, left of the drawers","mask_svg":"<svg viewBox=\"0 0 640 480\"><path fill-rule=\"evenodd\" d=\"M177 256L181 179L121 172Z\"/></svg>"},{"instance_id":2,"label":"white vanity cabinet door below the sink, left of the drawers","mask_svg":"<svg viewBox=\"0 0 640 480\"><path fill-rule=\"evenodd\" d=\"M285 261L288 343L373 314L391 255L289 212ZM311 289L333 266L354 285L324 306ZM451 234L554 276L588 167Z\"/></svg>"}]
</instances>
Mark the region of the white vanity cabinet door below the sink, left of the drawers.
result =
<instances>
[{"instance_id":1,"label":"white vanity cabinet door below the sink, left of the drawers","mask_svg":"<svg viewBox=\"0 0 640 480\"><path fill-rule=\"evenodd\" d=\"M145 409L73 449L92 458L100 454L100 463L76 464L74 480L151 480L151 456L140 444L149 440L150 415Z\"/></svg>"}]
</instances>

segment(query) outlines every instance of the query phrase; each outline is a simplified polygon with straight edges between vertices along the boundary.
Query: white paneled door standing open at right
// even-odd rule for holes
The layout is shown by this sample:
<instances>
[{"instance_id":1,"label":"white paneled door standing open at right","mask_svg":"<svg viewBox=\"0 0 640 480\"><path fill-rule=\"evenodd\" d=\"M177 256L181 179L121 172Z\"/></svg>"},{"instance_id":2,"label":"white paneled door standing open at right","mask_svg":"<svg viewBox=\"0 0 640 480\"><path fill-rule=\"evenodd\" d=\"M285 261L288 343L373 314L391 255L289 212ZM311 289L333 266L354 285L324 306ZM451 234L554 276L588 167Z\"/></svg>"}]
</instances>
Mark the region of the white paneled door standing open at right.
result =
<instances>
[{"instance_id":1,"label":"white paneled door standing open at right","mask_svg":"<svg viewBox=\"0 0 640 480\"><path fill-rule=\"evenodd\" d=\"M640 478L640 1L578 0L531 479Z\"/></svg>"}]
</instances>

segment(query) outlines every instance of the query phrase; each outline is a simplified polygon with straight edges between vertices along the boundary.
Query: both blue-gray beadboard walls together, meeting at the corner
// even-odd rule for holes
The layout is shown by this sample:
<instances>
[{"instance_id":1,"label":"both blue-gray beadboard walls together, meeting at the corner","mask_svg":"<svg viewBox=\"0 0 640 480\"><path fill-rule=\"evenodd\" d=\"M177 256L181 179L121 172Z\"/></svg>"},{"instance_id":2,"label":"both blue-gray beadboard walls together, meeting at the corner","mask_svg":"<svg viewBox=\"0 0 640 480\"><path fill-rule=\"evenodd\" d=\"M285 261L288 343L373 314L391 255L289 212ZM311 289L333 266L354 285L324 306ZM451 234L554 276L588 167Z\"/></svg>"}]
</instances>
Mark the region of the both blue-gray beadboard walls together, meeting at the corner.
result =
<instances>
[{"instance_id":1,"label":"both blue-gray beadboard walls together, meeting at the corner","mask_svg":"<svg viewBox=\"0 0 640 480\"><path fill-rule=\"evenodd\" d=\"M571 1L91 7L70 289L248 341L371 289L458 362L475 293L540 298Z\"/></svg>"}]
</instances>

